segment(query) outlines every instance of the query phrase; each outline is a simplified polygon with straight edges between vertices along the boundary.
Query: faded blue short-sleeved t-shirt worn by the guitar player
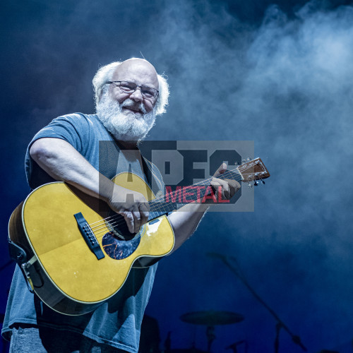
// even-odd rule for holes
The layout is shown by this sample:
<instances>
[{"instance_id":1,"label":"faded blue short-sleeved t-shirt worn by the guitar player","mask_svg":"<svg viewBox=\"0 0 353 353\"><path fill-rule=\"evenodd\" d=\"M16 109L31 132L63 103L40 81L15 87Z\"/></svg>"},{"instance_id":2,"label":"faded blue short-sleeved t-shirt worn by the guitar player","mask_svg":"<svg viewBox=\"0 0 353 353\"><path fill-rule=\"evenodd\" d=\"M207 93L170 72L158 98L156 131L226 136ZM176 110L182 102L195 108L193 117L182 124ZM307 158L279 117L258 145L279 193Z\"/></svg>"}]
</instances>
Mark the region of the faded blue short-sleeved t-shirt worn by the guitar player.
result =
<instances>
[{"instance_id":1,"label":"faded blue short-sleeved t-shirt worn by the guitar player","mask_svg":"<svg viewBox=\"0 0 353 353\"><path fill-rule=\"evenodd\" d=\"M152 191L164 193L164 184L158 169L145 160L153 175L147 180L140 162L126 158L114 138L104 128L96 115L68 114L54 119L35 135L28 146L25 170L31 189L54 181L30 157L29 149L39 138L61 138L73 145L95 169L112 179L118 172L133 172L149 181ZM27 323L71 330L97 342L138 352L140 325L148 303L157 264L150 268L131 268L124 286L95 311L80 316L67 316L50 309L30 293L18 265L13 275L4 319L2 335L9 338L11 326Z\"/></svg>"}]
</instances>

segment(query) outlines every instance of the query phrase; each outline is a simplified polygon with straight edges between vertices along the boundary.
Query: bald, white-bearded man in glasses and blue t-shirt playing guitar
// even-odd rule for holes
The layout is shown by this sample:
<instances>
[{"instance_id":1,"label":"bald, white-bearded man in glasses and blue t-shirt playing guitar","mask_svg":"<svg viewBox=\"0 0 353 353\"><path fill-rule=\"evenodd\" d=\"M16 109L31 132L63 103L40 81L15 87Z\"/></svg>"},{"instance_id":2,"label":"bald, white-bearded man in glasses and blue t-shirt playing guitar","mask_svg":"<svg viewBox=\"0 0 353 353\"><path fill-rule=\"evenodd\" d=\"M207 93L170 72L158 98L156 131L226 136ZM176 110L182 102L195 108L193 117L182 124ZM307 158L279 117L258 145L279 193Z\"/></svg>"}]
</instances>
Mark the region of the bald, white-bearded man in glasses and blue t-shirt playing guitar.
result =
<instances>
[{"instance_id":1,"label":"bald, white-bearded man in glasses and blue t-shirt playing guitar","mask_svg":"<svg viewBox=\"0 0 353 353\"><path fill-rule=\"evenodd\" d=\"M141 157L137 145L155 124L155 116L165 110L167 83L148 61L128 59L100 68L93 85L97 114L61 116L33 138L26 156L28 183L35 189L49 181L65 181L105 201L124 216L131 233L138 232L148 220L144 196L111 179L118 172L132 171L146 180L147 164L164 191L159 172ZM110 143L108 150L115 157L109 160L117 160L115 164L101 163L102 141ZM222 172L223 164L215 176ZM212 185L220 188L222 198L231 198L239 189L236 181L217 178ZM173 251L193 234L207 208L204 203L189 203L168 215L175 236ZM11 337L11 352L138 352L156 267L131 269L119 292L95 311L66 316L31 294L16 266L2 330L4 337Z\"/></svg>"}]
</instances>

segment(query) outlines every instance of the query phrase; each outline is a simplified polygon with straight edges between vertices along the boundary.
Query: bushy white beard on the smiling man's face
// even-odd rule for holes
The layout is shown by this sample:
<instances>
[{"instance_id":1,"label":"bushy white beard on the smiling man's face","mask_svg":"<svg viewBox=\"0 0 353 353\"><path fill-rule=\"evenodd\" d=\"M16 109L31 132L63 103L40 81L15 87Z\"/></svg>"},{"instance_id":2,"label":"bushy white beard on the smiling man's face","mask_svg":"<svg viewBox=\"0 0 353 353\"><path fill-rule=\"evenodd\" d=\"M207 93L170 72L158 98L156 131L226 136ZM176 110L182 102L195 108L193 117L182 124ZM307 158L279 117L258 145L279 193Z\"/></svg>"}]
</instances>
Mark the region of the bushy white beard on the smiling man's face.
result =
<instances>
[{"instance_id":1,"label":"bushy white beard on the smiling man's face","mask_svg":"<svg viewBox=\"0 0 353 353\"><path fill-rule=\"evenodd\" d=\"M107 91L103 92L102 98L97 104L98 118L116 140L139 142L145 138L155 124L155 108L148 113L141 102L138 109L143 112L142 115L123 112L123 107L132 106L136 106L136 102L130 98L119 104L110 97Z\"/></svg>"}]
</instances>

